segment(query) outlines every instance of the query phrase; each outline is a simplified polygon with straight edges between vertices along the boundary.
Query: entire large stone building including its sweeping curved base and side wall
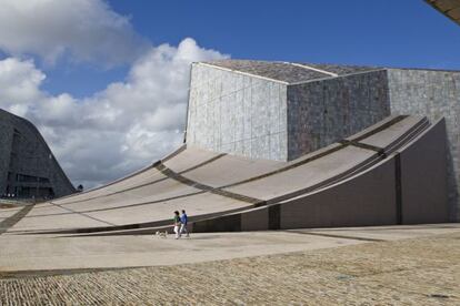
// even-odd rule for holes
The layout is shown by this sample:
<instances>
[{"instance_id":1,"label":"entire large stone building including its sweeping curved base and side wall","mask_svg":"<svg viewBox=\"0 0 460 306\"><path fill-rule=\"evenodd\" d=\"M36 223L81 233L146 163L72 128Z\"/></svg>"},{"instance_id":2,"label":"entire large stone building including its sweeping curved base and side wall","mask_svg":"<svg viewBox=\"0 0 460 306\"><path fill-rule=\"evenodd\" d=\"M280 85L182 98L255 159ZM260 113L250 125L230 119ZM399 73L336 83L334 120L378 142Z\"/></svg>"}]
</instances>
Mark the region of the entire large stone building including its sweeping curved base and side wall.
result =
<instances>
[{"instance_id":1,"label":"entire large stone building including its sweeping curved base and side wall","mask_svg":"<svg viewBox=\"0 0 460 306\"><path fill-rule=\"evenodd\" d=\"M174 210L193 232L449 222L459 90L456 71L194 63L181 147L106 186L4 211L3 231L150 235L172 231Z\"/></svg>"}]
</instances>

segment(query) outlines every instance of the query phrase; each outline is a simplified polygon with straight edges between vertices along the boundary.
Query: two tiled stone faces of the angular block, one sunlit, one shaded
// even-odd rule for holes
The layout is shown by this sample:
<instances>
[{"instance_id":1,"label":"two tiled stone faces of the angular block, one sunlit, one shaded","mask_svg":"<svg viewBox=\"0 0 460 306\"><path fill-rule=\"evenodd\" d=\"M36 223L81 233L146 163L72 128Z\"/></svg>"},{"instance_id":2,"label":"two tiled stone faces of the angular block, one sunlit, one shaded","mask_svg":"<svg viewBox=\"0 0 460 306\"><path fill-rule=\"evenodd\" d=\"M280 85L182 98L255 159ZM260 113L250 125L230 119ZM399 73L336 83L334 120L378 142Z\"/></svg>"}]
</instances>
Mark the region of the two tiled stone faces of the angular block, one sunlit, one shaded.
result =
<instances>
[{"instance_id":1,"label":"two tiled stone faces of the angular block, one sunlit, one shaded","mask_svg":"<svg viewBox=\"0 0 460 306\"><path fill-rule=\"evenodd\" d=\"M191 69L187 143L289 161L390 114L384 70L288 85L206 64Z\"/></svg>"}]
</instances>

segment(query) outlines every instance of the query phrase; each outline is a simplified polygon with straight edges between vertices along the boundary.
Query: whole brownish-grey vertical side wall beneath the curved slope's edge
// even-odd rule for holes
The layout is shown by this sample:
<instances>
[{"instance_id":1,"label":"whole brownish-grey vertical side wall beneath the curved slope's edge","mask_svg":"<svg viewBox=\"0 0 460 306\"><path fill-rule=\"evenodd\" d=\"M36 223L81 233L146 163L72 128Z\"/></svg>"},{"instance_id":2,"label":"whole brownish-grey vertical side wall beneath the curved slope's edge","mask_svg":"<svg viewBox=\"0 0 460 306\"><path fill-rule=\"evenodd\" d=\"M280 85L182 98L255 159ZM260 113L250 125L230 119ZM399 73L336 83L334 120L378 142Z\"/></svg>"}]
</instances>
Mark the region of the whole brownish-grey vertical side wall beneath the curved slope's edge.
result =
<instances>
[{"instance_id":1,"label":"whole brownish-grey vertical side wall beneath the curved slope's edge","mask_svg":"<svg viewBox=\"0 0 460 306\"><path fill-rule=\"evenodd\" d=\"M448 221L443 120L368 170L269 206L198 222L194 232Z\"/></svg>"}]
</instances>

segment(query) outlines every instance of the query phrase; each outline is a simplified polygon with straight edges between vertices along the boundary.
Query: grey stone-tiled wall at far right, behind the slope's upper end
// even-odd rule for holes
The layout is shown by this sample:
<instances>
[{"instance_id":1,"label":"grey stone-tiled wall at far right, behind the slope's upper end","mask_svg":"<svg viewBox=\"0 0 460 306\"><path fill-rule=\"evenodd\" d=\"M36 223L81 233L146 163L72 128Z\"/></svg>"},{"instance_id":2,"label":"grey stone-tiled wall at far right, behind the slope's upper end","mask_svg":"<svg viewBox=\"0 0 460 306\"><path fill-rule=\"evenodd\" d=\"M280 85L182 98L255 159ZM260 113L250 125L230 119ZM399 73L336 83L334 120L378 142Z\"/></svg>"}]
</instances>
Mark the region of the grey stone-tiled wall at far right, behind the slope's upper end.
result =
<instances>
[{"instance_id":1,"label":"grey stone-tiled wall at far right, behind the slope's upper end","mask_svg":"<svg viewBox=\"0 0 460 306\"><path fill-rule=\"evenodd\" d=\"M450 218L459 221L460 72L389 69L388 80L392 113L446 119Z\"/></svg>"}]
</instances>

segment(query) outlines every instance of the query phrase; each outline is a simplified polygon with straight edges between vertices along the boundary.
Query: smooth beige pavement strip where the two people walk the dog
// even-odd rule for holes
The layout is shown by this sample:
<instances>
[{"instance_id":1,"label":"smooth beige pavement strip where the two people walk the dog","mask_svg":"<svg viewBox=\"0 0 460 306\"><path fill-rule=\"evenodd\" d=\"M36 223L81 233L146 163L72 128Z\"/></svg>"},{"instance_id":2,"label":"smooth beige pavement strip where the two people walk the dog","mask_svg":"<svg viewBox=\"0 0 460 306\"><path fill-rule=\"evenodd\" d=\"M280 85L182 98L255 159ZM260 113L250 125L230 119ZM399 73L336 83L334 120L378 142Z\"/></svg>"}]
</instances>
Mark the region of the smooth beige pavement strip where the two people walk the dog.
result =
<instances>
[{"instance_id":1,"label":"smooth beige pavement strip where the two people walk the dog","mask_svg":"<svg viewBox=\"0 0 460 306\"><path fill-rule=\"evenodd\" d=\"M424 237L460 232L460 224L318 228L242 233L66 237L0 236L0 272L177 265Z\"/></svg>"}]
</instances>

